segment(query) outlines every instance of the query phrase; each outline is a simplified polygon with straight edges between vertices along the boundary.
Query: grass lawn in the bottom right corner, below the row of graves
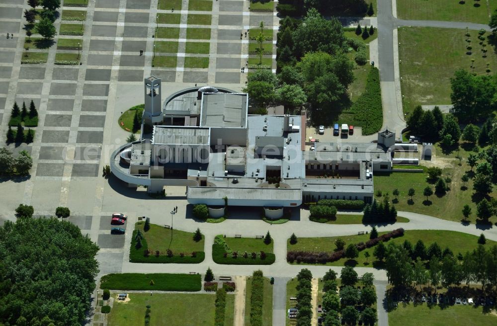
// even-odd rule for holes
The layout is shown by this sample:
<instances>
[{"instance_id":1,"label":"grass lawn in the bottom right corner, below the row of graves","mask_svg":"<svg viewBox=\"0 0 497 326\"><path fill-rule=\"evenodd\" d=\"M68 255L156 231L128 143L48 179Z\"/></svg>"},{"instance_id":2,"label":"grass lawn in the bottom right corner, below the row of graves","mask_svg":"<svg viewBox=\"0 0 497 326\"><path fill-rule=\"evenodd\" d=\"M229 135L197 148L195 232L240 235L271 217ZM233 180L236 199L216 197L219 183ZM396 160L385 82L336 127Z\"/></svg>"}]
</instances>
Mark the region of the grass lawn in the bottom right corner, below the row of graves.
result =
<instances>
[{"instance_id":1,"label":"grass lawn in the bottom right corner, below the row of graves","mask_svg":"<svg viewBox=\"0 0 497 326\"><path fill-rule=\"evenodd\" d=\"M426 304L414 306L409 303L388 313L389 326L466 326L496 325L495 313L483 313L482 306L454 305L441 309L440 306L429 308Z\"/></svg>"}]
</instances>

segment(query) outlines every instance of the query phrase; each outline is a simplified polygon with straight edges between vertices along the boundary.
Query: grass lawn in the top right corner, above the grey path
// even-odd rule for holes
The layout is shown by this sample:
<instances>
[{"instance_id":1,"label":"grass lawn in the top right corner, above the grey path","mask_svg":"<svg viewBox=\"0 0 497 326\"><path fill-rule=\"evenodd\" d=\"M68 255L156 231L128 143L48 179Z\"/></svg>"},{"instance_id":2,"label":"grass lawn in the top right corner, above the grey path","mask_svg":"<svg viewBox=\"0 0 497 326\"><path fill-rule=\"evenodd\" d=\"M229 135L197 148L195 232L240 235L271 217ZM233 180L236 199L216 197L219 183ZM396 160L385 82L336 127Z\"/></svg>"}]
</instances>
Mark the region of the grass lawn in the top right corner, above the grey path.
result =
<instances>
[{"instance_id":1,"label":"grass lawn in the top right corner, above the grey path","mask_svg":"<svg viewBox=\"0 0 497 326\"><path fill-rule=\"evenodd\" d=\"M397 3L397 16L411 20L447 20L488 24L489 12L493 12L497 7L496 1L489 2L490 7L487 1L402 0Z\"/></svg>"}]
</instances>

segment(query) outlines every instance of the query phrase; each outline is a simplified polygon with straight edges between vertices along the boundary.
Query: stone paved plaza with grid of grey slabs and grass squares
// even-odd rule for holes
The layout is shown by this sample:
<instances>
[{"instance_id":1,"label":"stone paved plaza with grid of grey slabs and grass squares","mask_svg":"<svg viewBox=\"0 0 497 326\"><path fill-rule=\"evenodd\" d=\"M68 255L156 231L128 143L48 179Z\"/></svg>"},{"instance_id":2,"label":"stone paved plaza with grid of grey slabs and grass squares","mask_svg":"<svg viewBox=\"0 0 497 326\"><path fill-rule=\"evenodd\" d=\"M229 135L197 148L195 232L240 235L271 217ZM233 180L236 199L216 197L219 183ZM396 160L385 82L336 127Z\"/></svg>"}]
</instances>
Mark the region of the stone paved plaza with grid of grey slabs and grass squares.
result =
<instances>
[{"instance_id":1,"label":"stone paved plaza with grid of grey slabs and grass squares","mask_svg":"<svg viewBox=\"0 0 497 326\"><path fill-rule=\"evenodd\" d=\"M186 198L184 188L178 188L168 190L174 200L154 200L101 176L112 151L129 135L118 126L119 116L143 103L143 79L150 75L163 79L163 99L194 84L241 90L248 72L245 32L263 21L273 34L274 41L266 43L275 54L279 18L273 12L250 12L250 2L244 0L89 0L87 7L63 3L54 44L36 48L26 42L26 2L0 0L0 142L5 142L14 101L33 100L39 123L32 144L8 145L14 153L30 152L33 168L27 180L0 182L0 219L13 219L20 203L33 205L37 216L67 206L69 221L102 248L99 257L106 265L101 273L120 271L125 238L110 236L109 215L158 216L167 206L186 206ZM82 35L66 35L67 30ZM39 37L33 34L29 40ZM21 64L33 55L46 63ZM63 56L81 64L55 64ZM275 69L273 56L265 58Z\"/></svg>"}]
</instances>

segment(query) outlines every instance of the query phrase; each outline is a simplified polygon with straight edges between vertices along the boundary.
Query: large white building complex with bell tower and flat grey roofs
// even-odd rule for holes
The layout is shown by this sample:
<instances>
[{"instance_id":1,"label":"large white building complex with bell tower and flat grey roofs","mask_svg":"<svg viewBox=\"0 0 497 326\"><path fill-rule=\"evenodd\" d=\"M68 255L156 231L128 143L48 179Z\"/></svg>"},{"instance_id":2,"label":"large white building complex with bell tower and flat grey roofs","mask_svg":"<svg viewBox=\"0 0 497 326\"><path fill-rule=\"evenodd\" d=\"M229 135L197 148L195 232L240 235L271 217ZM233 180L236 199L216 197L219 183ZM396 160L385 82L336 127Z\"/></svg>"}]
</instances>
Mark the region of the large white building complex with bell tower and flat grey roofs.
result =
<instances>
[{"instance_id":1,"label":"large white building complex with bell tower and flat grey roofs","mask_svg":"<svg viewBox=\"0 0 497 326\"><path fill-rule=\"evenodd\" d=\"M189 203L211 206L224 205L225 198L229 205L264 207L371 202L373 172L392 169L395 133L389 130L377 143L339 137L317 143L307 139L305 111L251 115L248 94L224 88L188 88L163 103L161 92L160 79L145 79L141 140L111 157L113 174L130 186L149 192L185 186Z\"/></svg>"}]
</instances>

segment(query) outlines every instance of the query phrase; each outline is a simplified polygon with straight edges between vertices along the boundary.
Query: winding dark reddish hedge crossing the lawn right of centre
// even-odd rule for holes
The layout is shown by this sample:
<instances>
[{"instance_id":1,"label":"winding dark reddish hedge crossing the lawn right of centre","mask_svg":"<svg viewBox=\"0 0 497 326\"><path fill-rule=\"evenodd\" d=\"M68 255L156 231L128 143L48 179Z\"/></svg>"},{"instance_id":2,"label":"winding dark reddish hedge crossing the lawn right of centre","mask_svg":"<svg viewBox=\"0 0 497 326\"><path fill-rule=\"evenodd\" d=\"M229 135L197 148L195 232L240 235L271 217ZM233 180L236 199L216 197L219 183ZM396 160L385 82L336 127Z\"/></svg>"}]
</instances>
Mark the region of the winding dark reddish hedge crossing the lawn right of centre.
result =
<instances>
[{"instance_id":1,"label":"winding dark reddish hedge crossing the lawn right of centre","mask_svg":"<svg viewBox=\"0 0 497 326\"><path fill-rule=\"evenodd\" d=\"M357 250L361 251L366 248L375 246L380 241L386 242L392 238L398 238L404 236L404 229L400 228L392 232L381 235L378 238L371 239L364 242L356 244ZM332 253L329 252L312 252L312 251L288 251L286 253L286 260L290 263L306 263L306 264L326 264L327 262L336 261L340 258L345 257L345 250L338 250Z\"/></svg>"}]
</instances>

